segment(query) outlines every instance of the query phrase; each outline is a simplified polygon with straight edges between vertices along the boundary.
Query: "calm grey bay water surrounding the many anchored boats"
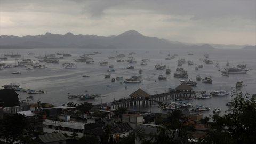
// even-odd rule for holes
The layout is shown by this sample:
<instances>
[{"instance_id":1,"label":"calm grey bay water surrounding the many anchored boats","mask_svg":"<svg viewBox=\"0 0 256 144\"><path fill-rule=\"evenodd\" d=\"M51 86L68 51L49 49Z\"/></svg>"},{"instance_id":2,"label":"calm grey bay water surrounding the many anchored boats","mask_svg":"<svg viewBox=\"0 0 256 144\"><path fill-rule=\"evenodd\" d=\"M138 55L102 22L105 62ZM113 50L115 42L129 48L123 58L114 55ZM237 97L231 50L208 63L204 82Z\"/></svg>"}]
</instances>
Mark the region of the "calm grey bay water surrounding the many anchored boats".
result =
<instances>
[{"instance_id":1,"label":"calm grey bay water surrounding the many anchored boats","mask_svg":"<svg viewBox=\"0 0 256 144\"><path fill-rule=\"evenodd\" d=\"M199 73L202 78L211 75L213 79L212 84L201 83L197 81L197 86L193 86L194 90L206 90L207 93L210 93L213 90L226 90L230 92L229 95L225 96L213 96L210 99L195 99L190 100L193 105L202 104L211 108L210 111L201 111L204 116L212 114L214 108L220 108L222 111L220 115L225 113L225 110L228 109L226 103L233 99L231 97L231 91L235 90L232 87L235 86L235 82L239 79L247 86L241 87L243 93L250 92L250 94L256 94L256 50L242 50L242 49L213 49L213 50L193 50L194 55L188 55L188 50L169 50L161 49L163 52L159 54L159 49L116 49L115 51L119 54L125 54L124 58L116 58L127 60L127 56L130 52L135 52L133 55L136 58L137 63L129 64L128 62L116 62L116 60L109 60L109 56L115 56L116 53L111 53L114 50L110 49L0 49L0 54L4 57L3 54L6 53L21 54L23 58L19 59L32 59L34 63L37 62L37 58L34 56L27 55L28 53L35 53L35 56L44 55L44 54L56 54L58 52L64 52L71 54L71 57L65 57L65 59L60 59L58 64L53 63L43 63L46 65L46 69L33 69L25 70L26 68L9 68L0 70L0 85L10 84L10 83L26 83L22 84L22 88L30 88L35 90L44 90L44 94L34 94L34 100L29 101L34 103L37 100L43 103L52 103L53 105L60 106L68 102L74 103L83 103L87 101L89 103L97 104L103 102L109 102L118 100L120 98L129 97L134 91L141 88L143 91L148 94L163 93L169 88L175 88L180 85L180 80L184 78L174 78L172 75L177 73L177 60L179 58L185 58L186 61L193 60L194 65L183 64L189 74L189 79L195 79L196 75ZM86 64L85 62L75 62L73 59L79 58L83 53L90 53L98 51L102 54L100 55L91 55L95 63ZM149 51L149 53L146 53ZM175 57L172 60L165 60L167 54L170 52L171 55L178 54L179 56ZM199 61L199 58L204 58L203 54L208 53L209 58L213 61L213 64L206 65L203 61ZM140 65L142 58L150 58L151 61L148 61L148 65ZM110 69L108 66L100 66L99 62L108 61L109 65L113 64L115 66L115 72L107 72ZM19 60L18 60L19 61ZM15 65L15 58L8 57L7 60L0 61L0 63L6 63L7 65ZM220 67L215 67L216 62L220 63ZM229 66L226 66L226 62L229 61ZM75 69L65 69L62 63L72 62L77 65ZM154 65L156 63L162 63L171 69L171 74L167 75L169 79L167 80L158 80L158 75L164 74L165 70L155 70ZM221 72L224 68L235 67L238 64L245 64L247 69L252 69L247 72L247 74L229 74L229 77L222 76ZM203 65L203 68L195 70L199 64ZM135 69L126 69L128 66L134 66ZM30 66L31 67L31 66ZM134 74L139 74L139 69L143 69L142 72L142 83L123 83L119 84L122 80L117 80L116 82L111 82L111 78L104 78L105 74L111 74L111 77L124 76L124 78L130 78ZM218 69L220 68L220 71ZM112 68L111 68L112 69ZM11 74L12 71L21 71L22 74ZM82 75L89 74L90 77L82 77ZM154 75L155 74L155 75ZM155 80L157 80L155 82ZM108 84L111 84L111 87L107 87ZM127 89L125 89L127 87ZM88 92L85 92L87 90ZM19 97L21 99L26 99L28 97L27 93L19 92ZM79 99L68 99L67 95L70 94L100 94L102 97L99 99L90 99L90 100L79 100ZM129 108L133 109L133 108ZM137 111L151 111L157 112L157 105L148 105L148 106L138 106L135 107ZM167 111L159 110L160 113L166 113Z\"/></svg>"}]
</instances>

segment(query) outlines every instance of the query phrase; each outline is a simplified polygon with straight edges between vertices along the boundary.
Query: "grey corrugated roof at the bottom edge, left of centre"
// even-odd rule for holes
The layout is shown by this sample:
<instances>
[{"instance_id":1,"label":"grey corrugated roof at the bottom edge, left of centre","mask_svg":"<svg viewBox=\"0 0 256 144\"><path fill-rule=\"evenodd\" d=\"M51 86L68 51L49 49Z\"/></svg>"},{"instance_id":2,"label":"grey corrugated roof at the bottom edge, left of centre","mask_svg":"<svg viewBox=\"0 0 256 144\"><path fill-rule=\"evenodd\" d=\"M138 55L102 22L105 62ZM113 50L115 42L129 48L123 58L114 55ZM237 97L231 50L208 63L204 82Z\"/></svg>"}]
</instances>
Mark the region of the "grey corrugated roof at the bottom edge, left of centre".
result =
<instances>
[{"instance_id":1,"label":"grey corrugated roof at the bottom edge, left of centre","mask_svg":"<svg viewBox=\"0 0 256 144\"><path fill-rule=\"evenodd\" d=\"M51 133L51 134L39 135L39 138L44 143L67 140L67 138L62 133Z\"/></svg>"}]
</instances>

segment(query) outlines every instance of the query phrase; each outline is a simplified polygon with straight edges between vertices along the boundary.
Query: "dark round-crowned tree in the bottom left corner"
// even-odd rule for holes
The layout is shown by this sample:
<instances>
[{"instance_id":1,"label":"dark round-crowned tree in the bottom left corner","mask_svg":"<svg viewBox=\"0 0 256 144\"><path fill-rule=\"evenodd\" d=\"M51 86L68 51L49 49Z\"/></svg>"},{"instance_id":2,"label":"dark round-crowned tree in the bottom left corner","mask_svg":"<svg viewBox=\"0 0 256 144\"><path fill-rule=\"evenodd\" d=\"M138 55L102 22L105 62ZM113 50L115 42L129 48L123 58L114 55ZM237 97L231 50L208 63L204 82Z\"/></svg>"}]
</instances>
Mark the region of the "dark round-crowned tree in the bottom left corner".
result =
<instances>
[{"instance_id":1,"label":"dark round-crowned tree in the bottom left corner","mask_svg":"<svg viewBox=\"0 0 256 144\"><path fill-rule=\"evenodd\" d=\"M23 133L26 127L25 116L21 114L14 114L13 116L6 116L3 121L2 138L9 138L10 143L19 140L19 136Z\"/></svg>"}]
</instances>

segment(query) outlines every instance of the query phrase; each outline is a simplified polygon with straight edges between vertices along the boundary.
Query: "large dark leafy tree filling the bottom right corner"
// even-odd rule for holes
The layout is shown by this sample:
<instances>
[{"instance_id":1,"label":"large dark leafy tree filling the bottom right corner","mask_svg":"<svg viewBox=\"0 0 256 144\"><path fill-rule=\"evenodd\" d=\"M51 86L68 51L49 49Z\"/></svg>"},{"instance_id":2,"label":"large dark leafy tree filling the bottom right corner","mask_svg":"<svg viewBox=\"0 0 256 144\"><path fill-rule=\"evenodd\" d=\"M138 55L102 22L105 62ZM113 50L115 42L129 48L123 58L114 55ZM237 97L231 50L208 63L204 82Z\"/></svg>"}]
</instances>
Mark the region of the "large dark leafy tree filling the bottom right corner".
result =
<instances>
[{"instance_id":1,"label":"large dark leafy tree filling the bottom right corner","mask_svg":"<svg viewBox=\"0 0 256 144\"><path fill-rule=\"evenodd\" d=\"M255 143L256 142L256 104L239 89L233 90L234 105L226 114L215 117L201 143ZM214 129L214 130L213 130Z\"/></svg>"}]
</instances>

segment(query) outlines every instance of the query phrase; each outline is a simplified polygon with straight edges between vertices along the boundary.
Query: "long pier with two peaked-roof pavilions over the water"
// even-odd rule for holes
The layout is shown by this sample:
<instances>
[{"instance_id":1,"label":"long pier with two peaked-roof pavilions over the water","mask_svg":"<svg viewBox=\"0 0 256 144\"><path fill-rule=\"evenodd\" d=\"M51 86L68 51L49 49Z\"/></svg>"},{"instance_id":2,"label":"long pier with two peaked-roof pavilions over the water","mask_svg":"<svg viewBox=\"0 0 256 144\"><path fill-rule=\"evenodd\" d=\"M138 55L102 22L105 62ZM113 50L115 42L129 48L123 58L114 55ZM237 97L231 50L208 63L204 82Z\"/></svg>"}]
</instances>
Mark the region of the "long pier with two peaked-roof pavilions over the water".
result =
<instances>
[{"instance_id":1,"label":"long pier with two peaked-roof pavilions over the water","mask_svg":"<svg viewBox=\"0 0 256 144\"><path fill-rule=\"evenodd\" d=\"M175 98L182 98L182 99L195 99L196 94L202 94L202 92L205 91L193 91L193 89L188 86L187 84L183 83L176 87L175 89L169 89L165 93L158 93L154 95L149 95L142 89L138 89L137 91L133 92L132 94L129 95L129 97L121 98L119 100L114 100L111 102L105 102L105 103L100 103L97 105L94 105L94 108L102 108L102 109L107 109L108 108L117 108L118 106L124 106L124 107L129 107L129 106L136 106L136 105L151 105L153 103L162 103L163 101L175 99Z\"/></svg>"}]
</instances>

